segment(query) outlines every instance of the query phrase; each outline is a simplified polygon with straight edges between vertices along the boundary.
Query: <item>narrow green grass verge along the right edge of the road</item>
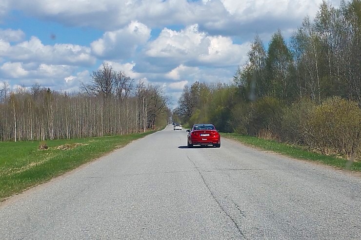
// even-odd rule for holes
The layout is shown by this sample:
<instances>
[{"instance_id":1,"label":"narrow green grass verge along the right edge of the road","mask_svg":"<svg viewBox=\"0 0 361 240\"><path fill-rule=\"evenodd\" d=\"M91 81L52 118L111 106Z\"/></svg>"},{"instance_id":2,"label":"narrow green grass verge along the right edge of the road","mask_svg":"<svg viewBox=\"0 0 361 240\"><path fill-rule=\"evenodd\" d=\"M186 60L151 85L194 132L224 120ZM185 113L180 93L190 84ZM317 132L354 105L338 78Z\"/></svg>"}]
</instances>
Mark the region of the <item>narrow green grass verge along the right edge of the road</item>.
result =
<instances>
[{"instance_id":1,"label":"narrow green grass verge along the right edge of the road","mask_svg":"<svg viewBox=\"0 0 361 240\"><path fill-rule=\"evenodd\" d=\"M321 155L318 153L307 151L301 146L289 145L278 141L264 140L256 137L242 136L233 133L221 133L221 136L224 138L237 140L246 145L255 146L263 150L281 153L295 159L319 162L325 165L333 166L338 169L345 169L346 163L348 162L348 160L342 158ZM354 172L361 172L361 162L353 162L349 169Z\"/></svg>"}]
</instances>

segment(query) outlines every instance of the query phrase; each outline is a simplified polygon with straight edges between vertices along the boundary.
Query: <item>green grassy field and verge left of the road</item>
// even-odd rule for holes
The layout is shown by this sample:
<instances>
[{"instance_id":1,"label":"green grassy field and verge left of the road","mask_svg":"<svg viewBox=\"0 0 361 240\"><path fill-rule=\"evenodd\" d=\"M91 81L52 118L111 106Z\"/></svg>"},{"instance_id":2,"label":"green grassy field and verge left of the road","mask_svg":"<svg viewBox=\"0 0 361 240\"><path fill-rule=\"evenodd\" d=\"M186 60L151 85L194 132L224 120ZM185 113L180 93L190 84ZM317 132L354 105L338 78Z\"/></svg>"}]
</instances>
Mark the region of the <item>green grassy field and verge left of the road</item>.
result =
<instances>
[{"instance_id":1,"label":"green grassy field and verge left of the road","mask_svg":"<svg viewBox=\"0 0 361 240\"><path fill-rule=\"evenodd\" d=\"M0 142L0 201L154 132L47 140L46 150L38 150L39 141Z\"/></svg>"}]
</instances>

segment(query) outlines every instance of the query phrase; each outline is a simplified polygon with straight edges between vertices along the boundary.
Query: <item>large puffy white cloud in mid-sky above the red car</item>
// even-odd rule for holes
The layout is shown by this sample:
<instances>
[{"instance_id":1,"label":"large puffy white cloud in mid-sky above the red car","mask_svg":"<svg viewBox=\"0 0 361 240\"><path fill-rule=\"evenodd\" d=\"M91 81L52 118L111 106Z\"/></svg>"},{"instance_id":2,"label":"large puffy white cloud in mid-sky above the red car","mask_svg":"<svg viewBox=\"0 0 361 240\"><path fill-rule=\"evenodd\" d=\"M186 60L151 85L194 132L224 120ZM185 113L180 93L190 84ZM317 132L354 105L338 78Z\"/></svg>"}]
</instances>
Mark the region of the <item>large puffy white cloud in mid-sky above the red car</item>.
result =
<instances>
[{"instance_id":1,"label":"large puffy white cloud in mid-sky above the red car","mask_svg":"<svg viewBox=\"0 0 361 240\"><path fill-rule=\"evenodd\" d=\"M192 25L179 32L164 28L146 54L187 65L236 66L245 62L248 49L249 43L234 44L229 37L209 36Z\"/></svg>"}]
</instances>

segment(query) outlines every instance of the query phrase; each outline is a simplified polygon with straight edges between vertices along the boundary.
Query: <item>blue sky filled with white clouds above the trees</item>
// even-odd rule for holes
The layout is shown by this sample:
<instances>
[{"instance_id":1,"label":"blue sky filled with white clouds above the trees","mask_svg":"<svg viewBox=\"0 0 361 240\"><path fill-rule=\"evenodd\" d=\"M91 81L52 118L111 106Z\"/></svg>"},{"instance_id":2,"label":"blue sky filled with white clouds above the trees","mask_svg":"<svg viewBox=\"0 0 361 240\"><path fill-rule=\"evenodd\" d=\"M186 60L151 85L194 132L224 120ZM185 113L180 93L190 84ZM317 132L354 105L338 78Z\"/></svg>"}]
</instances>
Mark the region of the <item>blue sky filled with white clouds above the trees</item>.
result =
<instances>
[{"instance_id":1,"label":"blue sky filled with white clouds above the trees","mask_svg":"<svg viewBox=\"0 0 361 240\"><path fill-rule=\"evenodd\" d=\"M339 1L331 1L338 5ZM259 35L291 36L321 0L0 0L0 86L77 92L106 62L160 85L230 83Z\"/></svg>"}]
</instances>

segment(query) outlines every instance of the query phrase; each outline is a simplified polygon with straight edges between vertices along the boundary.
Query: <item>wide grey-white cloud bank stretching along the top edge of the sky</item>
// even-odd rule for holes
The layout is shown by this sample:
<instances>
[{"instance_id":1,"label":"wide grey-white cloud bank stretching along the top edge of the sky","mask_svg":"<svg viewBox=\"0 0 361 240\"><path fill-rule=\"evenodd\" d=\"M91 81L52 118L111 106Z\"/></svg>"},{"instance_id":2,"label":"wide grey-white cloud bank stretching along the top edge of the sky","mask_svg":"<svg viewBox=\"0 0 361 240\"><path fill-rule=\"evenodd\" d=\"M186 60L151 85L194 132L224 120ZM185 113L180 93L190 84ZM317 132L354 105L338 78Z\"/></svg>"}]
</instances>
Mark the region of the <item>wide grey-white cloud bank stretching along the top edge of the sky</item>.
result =
<instances>
[{"instance_id":1,"label":"wide grey-white cloud bank stretching along the top edge of the sky","mask_svg":"<svg viewBox=\"0 0 361 240\"><path fill-rule=\"evenodd\" d=\"M11 7L40 19L106 31L123 28L132 20L138 20L152 28L198 23L201 29L212 34L244 35L253 29L251 34L254 35L259 30L275 32L278 28L289 28L306 15L314 16L321 1L12 0ZM339 0L331 2L334 5L340 3ZM255 27L247 27L249 24Z\"/></svg>"}]
</instances>

